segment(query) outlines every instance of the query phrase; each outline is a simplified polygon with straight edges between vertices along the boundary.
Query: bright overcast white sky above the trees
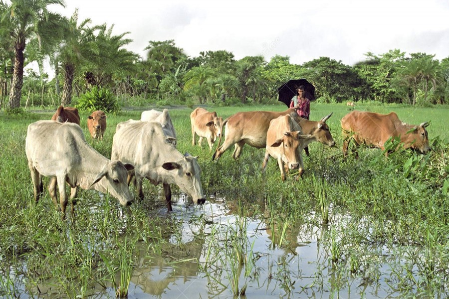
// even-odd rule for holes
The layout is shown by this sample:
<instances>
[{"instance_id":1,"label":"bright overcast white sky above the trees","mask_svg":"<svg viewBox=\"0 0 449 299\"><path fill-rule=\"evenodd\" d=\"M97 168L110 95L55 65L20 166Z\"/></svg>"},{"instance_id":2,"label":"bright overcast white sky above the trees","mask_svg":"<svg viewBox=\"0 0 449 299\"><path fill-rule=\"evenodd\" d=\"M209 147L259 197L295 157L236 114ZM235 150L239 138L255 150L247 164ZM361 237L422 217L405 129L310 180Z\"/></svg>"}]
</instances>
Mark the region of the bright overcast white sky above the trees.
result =
<instances>
[{"instance_id":1,"label":"bright overcast white sky above the trees","mask_svg":"<svg viewBox=\"0 0 449 299\"><path fill-rule=\"evenodd\" d=\"M353 65L395 48L449 56L448 0L67 0L51 10L71 16L75 8L79 21L129 31L127 48L142 57L148 41L169 39L191 57L226 50L295 64L326 56Z\"/></svg>"}]
</instances>

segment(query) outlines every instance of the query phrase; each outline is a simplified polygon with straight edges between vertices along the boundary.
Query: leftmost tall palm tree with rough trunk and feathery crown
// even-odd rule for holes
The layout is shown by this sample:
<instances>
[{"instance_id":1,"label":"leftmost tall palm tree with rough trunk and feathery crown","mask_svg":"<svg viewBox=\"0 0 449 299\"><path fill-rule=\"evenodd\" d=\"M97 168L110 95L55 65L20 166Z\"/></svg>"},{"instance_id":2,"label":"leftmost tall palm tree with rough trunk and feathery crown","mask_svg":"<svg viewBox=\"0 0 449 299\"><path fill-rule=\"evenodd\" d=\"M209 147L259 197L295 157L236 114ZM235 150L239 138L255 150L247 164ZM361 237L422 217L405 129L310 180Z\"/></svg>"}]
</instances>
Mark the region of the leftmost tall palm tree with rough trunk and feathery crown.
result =
<instances>
[{"instance_id":1,"label":"leftmost tall palm tree with rough trunk and feathery crown","mask_svg":"<svg viewBox=\"0 0 449 299\"><path fill-rule=\"evenodd\" d=\"M41 42L44 27L59 27L63 21L60 14L50 12L50 4L64 6L63 0L11 0L7 5L0 0L0 26L9 30L9 39L14 45L14 69L9 93L9 108L19 108L23 85L23 64L26 43L32 38Z\"/></svg>"}]
</instances>

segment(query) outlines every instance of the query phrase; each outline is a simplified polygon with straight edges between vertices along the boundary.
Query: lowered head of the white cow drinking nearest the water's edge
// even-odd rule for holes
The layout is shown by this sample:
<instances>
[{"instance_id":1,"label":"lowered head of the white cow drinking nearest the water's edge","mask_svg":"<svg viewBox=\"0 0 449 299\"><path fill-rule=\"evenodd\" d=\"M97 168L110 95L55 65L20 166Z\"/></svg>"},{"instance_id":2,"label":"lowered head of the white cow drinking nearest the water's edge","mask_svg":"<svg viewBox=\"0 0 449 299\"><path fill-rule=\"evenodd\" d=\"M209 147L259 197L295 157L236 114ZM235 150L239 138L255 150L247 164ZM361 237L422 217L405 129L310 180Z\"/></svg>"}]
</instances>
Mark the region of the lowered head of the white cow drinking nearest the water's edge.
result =
<instances>
[{"instance_id":1,"label":"lowered head of the white cow drinking nearest the water's edge","mask_svg":"<svg viewBox=\"0 0 449 299\"><path fill-rule=\"evenodd\" d=\"M201 168L198 157L187 154L182 159L173 162L165 162L162 168L168 170L178 187L192 197L194 203L203 204L206 197L201 185Z\"/></svg>"}]
</instances>

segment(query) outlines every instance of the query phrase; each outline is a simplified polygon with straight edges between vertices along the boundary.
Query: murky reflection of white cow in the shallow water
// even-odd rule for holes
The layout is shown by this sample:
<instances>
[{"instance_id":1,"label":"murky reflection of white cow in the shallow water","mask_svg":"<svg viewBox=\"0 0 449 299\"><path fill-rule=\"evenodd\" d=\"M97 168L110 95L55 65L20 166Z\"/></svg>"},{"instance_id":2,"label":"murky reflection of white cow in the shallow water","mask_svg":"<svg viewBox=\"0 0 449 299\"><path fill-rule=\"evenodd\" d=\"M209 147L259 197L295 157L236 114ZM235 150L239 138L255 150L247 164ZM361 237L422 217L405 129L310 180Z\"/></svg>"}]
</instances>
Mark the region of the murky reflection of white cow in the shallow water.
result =
<instances>
[{"instance_id":1,"label":"murky reflection of white cow in the shallow water","mask_svg":"<svg viewBox=\"0 0 449 299\"><path fill-rule=\"evenodd\" d=\"M161 256L149 257L146 244L141 244L139 249L141 258L135 264L131 282L142 288L144 293L162 295L169 285L175 284L181 278L184 284L196 279L204 243L202 231L195 233L193 240L187 243L167 242L162 251L164 256L170 257L170 260ZM177 286L180 288L179 284Z\"/></svg>"}]
</instances>

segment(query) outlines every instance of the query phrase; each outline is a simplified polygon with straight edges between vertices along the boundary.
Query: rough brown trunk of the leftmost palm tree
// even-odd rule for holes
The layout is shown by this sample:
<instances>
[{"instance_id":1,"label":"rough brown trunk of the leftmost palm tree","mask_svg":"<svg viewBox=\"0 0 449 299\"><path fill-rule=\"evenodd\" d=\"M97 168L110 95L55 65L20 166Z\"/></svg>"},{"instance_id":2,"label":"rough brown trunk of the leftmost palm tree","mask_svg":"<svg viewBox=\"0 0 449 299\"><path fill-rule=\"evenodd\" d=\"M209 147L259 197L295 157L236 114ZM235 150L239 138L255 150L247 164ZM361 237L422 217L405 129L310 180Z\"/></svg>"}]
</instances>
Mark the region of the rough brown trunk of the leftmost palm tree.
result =
<instances>
[{"instance_id":1,"label":"rough brown trunk of the leftmost palm tree","mask_svg":"<svg viewBox=\"0 0 449 299\"><path fill-rule=\"evenodd\" d=\"M20 108L23 85L23 50L25 42L15 45L14 71L12 72L11 90L9 92L9 109Z\"/></svg>"}]
</instances>

